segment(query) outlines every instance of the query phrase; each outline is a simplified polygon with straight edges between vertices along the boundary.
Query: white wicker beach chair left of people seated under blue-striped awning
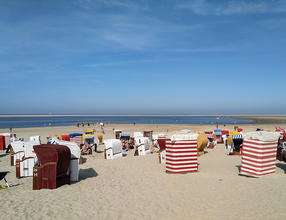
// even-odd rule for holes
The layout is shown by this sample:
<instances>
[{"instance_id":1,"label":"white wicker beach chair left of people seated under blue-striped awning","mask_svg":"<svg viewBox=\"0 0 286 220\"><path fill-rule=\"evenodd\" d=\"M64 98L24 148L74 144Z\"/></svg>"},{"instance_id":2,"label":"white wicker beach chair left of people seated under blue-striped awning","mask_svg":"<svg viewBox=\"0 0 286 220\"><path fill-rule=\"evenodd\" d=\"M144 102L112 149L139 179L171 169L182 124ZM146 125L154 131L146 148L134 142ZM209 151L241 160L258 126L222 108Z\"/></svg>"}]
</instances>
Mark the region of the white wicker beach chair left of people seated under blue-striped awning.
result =
<instances>
[{"instance_id":1,"label":"white wicker beach chair left of people seated under blue-striped awning","mask_svg":"<svg viewBox=\"0 0 286 220\"><path fill-rule=\"evenodd\" d=\"M105 159L117 159L122 157L121 141L118 139L104 140L104 158Z\"/></svg>"}]
</instances>

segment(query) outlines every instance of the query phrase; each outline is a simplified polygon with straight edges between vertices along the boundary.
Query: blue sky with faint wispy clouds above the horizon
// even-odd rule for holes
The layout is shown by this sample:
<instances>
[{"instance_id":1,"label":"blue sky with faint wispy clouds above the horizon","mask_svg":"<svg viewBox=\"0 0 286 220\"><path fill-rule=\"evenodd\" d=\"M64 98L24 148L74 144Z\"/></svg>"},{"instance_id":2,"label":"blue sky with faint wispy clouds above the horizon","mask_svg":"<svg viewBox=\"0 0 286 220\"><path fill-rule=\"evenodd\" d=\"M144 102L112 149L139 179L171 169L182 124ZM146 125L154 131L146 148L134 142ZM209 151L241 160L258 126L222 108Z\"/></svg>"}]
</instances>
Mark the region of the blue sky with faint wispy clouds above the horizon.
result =
<instances>
[{"instance_id":1,"label":"blue sky with faint wispy clouds above the horizon","mask_svg":"<svg viewBox=\"0 0 286 220\"><path fill-rule=\"evenodd\" d=\"M0 0L0 114L286 114L286 1Z\"/></svg>"}]
</instances>

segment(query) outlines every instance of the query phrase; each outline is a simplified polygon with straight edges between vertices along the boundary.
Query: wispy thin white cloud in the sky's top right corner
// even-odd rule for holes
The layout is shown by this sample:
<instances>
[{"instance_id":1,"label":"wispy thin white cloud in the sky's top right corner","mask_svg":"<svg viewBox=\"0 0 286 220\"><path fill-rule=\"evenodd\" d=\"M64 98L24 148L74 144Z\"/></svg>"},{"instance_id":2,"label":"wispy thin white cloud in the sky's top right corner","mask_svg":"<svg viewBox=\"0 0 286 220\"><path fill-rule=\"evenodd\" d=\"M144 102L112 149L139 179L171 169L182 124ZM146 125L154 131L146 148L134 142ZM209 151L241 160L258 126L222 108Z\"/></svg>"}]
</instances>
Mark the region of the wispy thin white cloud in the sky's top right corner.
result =
<instances>
[{"instance_id":1,"label":"wispy thin white cloud in the sky's top right corner","mask_svg":"<svg viewBox=\"0 0 286 220\"><path fill-rule=\"evenodd\" d=\"M279 13L286 12L286 1L227 1L218 4L192 0L176 5L176 9L190 9L200 15Z\"/></svg>"}]
</instances>

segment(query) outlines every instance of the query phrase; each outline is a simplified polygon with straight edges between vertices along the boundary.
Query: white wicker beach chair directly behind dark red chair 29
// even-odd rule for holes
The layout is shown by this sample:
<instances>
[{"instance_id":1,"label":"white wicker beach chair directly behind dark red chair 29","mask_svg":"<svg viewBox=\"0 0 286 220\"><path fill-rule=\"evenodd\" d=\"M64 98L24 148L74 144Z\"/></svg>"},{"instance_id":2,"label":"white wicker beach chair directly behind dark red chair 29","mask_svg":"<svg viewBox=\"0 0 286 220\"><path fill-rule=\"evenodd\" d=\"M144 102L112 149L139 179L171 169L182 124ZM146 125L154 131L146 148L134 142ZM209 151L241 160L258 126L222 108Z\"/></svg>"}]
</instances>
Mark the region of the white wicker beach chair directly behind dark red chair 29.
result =
<instances>
[{"instance_id":1,"label":"white wicker beach chair directly behind dark red chair 29","mask_svg":"<svg viewBox=\"0 0 286 220\"><path fill-rule=\"evenodd\" d=\"M59 142L61 145L67 146L71 150L71 163L70 163L70 180L78 181L78 170L79 170L79 160L80 160L80 148L75 142L61 140Z\"/></svg>"}]
</instances>

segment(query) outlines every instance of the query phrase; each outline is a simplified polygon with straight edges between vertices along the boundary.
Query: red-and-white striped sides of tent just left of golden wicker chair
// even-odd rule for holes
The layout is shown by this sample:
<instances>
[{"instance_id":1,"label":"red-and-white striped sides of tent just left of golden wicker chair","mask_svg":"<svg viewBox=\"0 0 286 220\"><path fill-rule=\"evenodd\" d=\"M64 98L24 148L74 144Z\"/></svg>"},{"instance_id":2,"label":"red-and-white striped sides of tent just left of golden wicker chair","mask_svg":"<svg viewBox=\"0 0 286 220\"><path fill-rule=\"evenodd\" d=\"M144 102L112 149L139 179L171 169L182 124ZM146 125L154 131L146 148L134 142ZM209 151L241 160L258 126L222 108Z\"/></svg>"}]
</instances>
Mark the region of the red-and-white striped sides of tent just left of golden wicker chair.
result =
<instances>
[{"instance_id":1,"label":"red-and-white striped sides of tent just left of golden wicker chair","mask_svg":"<svg viewBox=\"0 0 286 220\"><path fill-rule=\"evenodd\" d=\"M198 171L197 140L166 139L166 173L182 174Z\"/></svg>"}]
</instances>

